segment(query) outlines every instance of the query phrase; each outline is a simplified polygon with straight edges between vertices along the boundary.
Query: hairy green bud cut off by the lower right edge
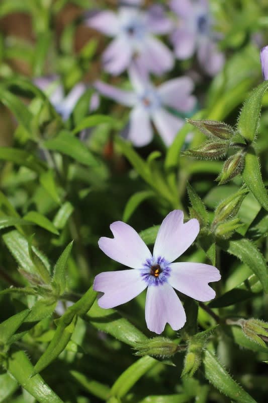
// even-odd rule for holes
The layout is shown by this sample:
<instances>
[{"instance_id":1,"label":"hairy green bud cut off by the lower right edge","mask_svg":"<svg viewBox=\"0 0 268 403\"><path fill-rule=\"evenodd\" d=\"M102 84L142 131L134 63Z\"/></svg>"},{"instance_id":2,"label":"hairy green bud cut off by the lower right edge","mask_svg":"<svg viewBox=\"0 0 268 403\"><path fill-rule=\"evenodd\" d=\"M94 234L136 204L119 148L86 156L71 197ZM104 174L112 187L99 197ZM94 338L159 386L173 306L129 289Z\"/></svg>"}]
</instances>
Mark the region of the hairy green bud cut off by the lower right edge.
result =
<instances>
[{"instance_id":1,"label":"hairy green bud cut off by the lower right edge","mask_svg":"<svg viewBox=\"0 0 268 403\"><path fill-rule=\"evenodd\" d=\"M268 323L260 319L239 319L238 324L241 326L246 337L260 346L267 347L264 342L268 342Z\"/></svg>"}]
</instances>

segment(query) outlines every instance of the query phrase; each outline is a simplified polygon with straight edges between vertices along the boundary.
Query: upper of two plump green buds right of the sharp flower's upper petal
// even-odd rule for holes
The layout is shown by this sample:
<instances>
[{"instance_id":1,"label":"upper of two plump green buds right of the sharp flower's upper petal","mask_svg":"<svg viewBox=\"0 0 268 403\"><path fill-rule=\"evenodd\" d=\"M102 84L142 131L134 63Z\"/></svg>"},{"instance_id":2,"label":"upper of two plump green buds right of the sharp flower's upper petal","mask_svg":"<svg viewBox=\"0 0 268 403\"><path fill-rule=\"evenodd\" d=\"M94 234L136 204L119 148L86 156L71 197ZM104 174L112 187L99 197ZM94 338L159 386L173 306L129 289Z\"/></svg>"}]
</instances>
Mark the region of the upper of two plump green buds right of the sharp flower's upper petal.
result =
<instances>
[{"instance_id":1,"label":"upper of two plump green buds right of the sharp flower's upper petal","mask_svg":"<svg viewBox=\"0 0 268 403\"><path fill-rule=\"evenodd\" d=\"M236 193L231 194L229 197L224 199L215 210L215 219L212 223L212 227L216 223L234 217L238 213L241 203L247 193L248 189L243 186Z\"/></svg>"}]
</instances>

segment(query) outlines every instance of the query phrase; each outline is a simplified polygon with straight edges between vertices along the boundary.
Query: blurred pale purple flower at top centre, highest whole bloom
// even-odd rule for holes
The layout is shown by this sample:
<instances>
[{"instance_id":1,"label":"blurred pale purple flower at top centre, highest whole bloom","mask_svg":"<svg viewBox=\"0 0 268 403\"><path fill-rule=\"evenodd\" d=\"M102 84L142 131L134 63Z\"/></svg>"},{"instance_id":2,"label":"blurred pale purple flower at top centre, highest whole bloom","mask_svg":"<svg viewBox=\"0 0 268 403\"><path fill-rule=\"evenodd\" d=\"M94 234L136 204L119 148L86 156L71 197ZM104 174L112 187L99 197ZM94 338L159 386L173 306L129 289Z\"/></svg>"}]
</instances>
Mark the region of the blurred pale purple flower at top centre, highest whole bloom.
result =
<instances>
[{"instance_id":1,"label":"blurred pale purple flower at top centre, highest whole bloom","mask_svg":"<svg viewBox=\"0 0 268 403\"><path fill-rule=\"evenodd\" d=\"M137 2L132 3L137 5ZM85 21L88 26L114 38L103 54L104 69L108 73L119 75L133 60L140 68L157 75L172 68L172 52L154 36L171 30L171 22L160 6L152 6L145 12L125 5L118 13L101 11Z\"/></svg>"}]
</instances>

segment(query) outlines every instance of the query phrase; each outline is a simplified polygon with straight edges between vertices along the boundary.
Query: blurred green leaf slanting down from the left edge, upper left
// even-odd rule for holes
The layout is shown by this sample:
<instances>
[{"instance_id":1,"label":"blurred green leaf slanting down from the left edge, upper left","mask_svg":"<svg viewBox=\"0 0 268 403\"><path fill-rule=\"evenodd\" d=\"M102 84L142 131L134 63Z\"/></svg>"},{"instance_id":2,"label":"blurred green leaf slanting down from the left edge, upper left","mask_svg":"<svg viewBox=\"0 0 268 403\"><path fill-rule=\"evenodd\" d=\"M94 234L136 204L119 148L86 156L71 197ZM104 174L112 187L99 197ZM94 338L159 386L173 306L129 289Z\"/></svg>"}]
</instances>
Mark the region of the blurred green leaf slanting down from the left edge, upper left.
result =
<instances>
[{"instance_id":1,"label":"blurred green leaf slanting down from the left edge, upper left","mask_svg":"<svg viewBox=\"0 0 268 403\"><path fill-rule=\"evenodd\" d=\"M10 91L4 87L0 87L0 101L7 106L15 115L16 119L27 132L31 133L32 113L28 107Z\"/></svg>"}]
</instances>

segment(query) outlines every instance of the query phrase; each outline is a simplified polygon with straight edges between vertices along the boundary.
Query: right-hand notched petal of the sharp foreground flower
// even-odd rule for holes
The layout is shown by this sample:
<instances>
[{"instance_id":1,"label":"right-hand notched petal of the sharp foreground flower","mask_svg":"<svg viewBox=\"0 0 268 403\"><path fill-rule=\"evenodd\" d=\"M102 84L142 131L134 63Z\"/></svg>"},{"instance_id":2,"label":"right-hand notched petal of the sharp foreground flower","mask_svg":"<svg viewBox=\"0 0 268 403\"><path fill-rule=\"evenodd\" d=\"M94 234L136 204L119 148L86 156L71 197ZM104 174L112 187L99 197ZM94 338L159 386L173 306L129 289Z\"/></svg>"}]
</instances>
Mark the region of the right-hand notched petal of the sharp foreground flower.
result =
<instances>
[{"instance_id":1,"label":"right-hand notched petal of the sharp foreground flower","mask_svg":"<svg viewBox=\"0 0 268 403\"><path fill-rule=\"evenodd\" d=\"M215 291L208 285L219 281L220 272L214 266L204 263L179 262L170 264L168 283L176 290L198 301L210 301Z\"/></svg>"}]
</instances>

